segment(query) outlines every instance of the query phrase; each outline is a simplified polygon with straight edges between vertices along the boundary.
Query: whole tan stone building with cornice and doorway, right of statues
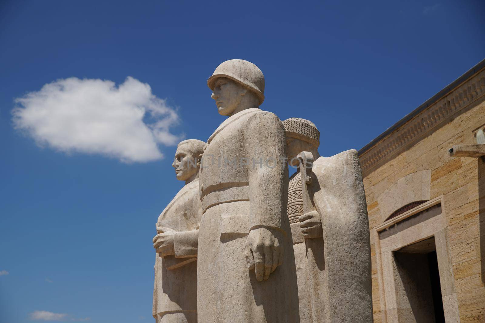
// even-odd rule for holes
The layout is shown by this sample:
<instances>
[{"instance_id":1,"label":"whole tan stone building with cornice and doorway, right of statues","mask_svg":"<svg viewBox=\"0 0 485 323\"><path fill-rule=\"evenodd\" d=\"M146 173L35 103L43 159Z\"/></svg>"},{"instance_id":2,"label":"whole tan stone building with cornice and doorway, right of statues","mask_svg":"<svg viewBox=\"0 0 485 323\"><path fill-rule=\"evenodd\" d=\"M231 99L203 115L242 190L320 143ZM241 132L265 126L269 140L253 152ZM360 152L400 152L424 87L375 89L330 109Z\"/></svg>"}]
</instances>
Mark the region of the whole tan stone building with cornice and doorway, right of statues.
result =
<instances>
[{"instance_id":1,"label":"whole tan stone building with cornice and doorway, right of statues","mask_svg":"<svg viewBox=\"0 0 485 323\"><path fill-rule=\"evenodd\" d=\"M485 322L484 101L485 60L359 151L376 323Z\"/></svg>"}]
</instances>

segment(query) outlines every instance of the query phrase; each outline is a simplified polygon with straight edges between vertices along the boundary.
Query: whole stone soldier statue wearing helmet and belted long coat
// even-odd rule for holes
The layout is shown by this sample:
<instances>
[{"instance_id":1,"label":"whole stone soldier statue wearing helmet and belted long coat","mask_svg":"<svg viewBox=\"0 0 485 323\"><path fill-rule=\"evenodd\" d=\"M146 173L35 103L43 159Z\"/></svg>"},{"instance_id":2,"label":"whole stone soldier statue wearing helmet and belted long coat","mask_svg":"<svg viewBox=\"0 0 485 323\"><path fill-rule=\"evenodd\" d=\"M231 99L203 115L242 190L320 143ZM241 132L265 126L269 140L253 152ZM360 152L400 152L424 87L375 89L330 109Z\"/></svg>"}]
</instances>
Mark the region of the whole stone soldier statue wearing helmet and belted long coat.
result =
<instances>
[{"instance_id":1,"label":"whole stone soldier statue wearing helmet and belted long coat","mask_svg":"<svg viewBox=\"0 0 485 323\"><path fill-rule=\"evenodd\" d=\"M210 136L199 175L199 322L299 322L283 124L258 108L256 65L224 62L208 85L229 118Z\"/></svg>"}]
</instances>

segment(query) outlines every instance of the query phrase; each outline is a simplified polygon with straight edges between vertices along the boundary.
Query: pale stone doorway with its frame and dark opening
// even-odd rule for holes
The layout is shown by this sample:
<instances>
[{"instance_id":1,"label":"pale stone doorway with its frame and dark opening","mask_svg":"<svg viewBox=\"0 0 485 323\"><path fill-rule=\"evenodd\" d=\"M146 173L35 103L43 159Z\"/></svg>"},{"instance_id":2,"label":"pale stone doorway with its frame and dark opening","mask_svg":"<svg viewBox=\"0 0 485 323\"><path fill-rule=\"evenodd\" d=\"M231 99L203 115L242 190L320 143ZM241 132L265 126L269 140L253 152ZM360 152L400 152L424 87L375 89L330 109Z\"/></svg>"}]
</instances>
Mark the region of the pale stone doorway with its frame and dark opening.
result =
<instances>
[{"instance_id":1,"label":"pale stone doorway with its frame and dark opening","mask_svg":"<svg viewBox=\"0 0 485 323\"><path fill-rule=\"evenodd\" d=\"M460 322L443 198L374 228L383 323Z\"/></svg>"}]
</instances>

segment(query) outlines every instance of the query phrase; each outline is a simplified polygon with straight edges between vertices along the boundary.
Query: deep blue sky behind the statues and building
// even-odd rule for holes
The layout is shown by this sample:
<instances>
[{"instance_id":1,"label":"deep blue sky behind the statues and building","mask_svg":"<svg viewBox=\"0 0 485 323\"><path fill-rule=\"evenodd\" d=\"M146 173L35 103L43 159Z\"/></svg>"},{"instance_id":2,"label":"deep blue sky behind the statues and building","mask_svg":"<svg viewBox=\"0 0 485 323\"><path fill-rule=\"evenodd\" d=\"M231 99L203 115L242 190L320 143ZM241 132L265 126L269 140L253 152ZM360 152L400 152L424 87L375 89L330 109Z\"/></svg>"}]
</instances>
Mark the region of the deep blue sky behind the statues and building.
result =
<instances>
[{"instance_id":1,"label":"deep blue sky behind the statues and building","mask_svg":"<svg viewBox=\"0 0 485 323\"><path fill-rule=\"evenodd\" d=\"M478 0L139 2L0 4L0 322L152 322L151 239L182 186L173 144L224 120L206 85L219 63L257 64L261 108L313 121L328 156L363 147L485 57ZM69 77L99 92L39 92ZM133 102L155 115L113 123L134 111L120 84L148 91ZM29 93L21 108L49 114L14 129ZM101 121L119 127L93 133Z\"/></svg>"}]
</instances>

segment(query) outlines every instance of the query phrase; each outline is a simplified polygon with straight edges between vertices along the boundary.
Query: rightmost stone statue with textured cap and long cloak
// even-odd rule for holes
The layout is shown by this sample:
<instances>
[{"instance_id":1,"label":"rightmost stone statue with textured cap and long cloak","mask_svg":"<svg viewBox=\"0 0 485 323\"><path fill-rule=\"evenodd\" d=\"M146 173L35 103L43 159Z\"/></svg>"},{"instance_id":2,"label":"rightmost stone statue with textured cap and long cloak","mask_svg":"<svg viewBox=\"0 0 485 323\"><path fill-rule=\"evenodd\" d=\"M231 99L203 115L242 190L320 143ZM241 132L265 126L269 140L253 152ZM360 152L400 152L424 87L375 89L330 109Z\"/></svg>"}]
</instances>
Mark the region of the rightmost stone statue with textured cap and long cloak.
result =
<instances>
[{"instance_id":1,"label":"rightmost stone statue with textured cap and long cloak","mask_svg":"<svg viewBox=\"0 0 485 323\"><path fill-rule=\"evenodd\" d=\"M369 225L357 152L321 157L313 123L291 118L283 124L288 159L299 166L289 182L288 216L300 322L373 322ZM305 155L312 165L304 163Z\"/></svg>"}]
</instances>

